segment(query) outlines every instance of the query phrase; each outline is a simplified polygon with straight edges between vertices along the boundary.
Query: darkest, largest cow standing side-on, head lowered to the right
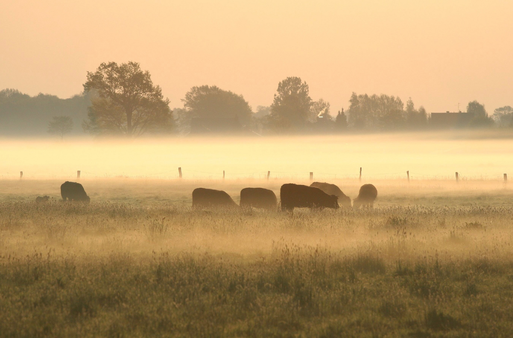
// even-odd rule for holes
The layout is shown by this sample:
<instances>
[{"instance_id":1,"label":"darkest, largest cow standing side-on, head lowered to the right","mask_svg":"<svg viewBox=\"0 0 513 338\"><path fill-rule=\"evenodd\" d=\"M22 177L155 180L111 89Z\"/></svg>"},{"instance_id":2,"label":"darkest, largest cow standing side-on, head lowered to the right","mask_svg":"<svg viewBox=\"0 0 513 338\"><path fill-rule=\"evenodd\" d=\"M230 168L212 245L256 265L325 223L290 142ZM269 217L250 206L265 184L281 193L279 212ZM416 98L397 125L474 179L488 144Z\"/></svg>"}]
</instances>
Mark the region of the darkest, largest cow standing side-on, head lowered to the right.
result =
<instances>
[{"instance_id":1,"label":"darkest, largest cow standing side-on, head lowered to the right","mask_svg":"<svg viewBox=\"0 0 513 338\"><path fill-rule=\"evenodd\" d=\"M333 208L338 209L337 196L328 195L315 187L287 183L280 189L282 210L294 208Z\"/></svg>"}]
</instances>

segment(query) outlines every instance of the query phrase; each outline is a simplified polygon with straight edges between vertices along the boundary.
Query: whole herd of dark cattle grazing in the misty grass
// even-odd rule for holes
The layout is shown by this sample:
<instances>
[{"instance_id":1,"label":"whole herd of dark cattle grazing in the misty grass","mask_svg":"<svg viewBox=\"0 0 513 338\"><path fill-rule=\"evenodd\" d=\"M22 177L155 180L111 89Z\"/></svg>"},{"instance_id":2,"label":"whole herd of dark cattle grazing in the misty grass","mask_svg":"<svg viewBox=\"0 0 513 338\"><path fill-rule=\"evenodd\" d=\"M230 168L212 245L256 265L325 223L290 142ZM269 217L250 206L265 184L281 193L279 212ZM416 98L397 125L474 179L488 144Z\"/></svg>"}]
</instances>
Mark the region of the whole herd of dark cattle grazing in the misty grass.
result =
<instances>
[{"instance_id":1,"label":"whole herd of dark cattle grazing in the misty grass","mask_svg":"<svg viewBox=\"0 0 513 338\"><path fill-rule=\"evenodd\" d=\"M80 183L66 181L61 185L63 200L86 201L87 196L84 187ZM372 184L364 184L360 188L357 198L353 199L354 208L360 206L372 206L378 196L378 190ZM351 198L346 196L340 188L334 184L314 182L310 186L287 183L280 189L282 210L294 208L334 208L339 205L345 208L351 207ZM36 202L48 200L48 196L37 197ZM236 207L237 204L225 191L196 188L192 191L193 207ZM244 188L241 190L241 207L253 207L264 209L276 209L278 199L272 190L265 188Z\"/></svg>"}]
</instances>

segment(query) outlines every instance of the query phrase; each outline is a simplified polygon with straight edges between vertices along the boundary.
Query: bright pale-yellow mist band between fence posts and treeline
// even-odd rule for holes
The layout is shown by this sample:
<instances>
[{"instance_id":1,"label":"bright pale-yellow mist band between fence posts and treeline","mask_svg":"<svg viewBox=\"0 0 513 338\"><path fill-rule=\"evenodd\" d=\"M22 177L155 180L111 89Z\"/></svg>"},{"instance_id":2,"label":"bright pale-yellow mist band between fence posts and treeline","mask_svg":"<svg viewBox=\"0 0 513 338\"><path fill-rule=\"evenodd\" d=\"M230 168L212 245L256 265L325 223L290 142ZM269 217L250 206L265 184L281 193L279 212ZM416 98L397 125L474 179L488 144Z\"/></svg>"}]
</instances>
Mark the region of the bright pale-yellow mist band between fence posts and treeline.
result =
<instances>
[{"instance_id":1,"label":"bright pale-yellow mist band between fence posts and treeline","mask_svg":"<svg viewBox=\"0 0 513 338\"><path fill-rule=\"evenodd\" d=\"M488 136L488 137L485 137ZM509 133L482 131L351 134L295 137L189 137L137 140L2 139L4 179L183 177L222 179L274 177L315 179L498 178L513 165ZM485 138L483 138L485 137Z\"/></svg>"}]
</instances>

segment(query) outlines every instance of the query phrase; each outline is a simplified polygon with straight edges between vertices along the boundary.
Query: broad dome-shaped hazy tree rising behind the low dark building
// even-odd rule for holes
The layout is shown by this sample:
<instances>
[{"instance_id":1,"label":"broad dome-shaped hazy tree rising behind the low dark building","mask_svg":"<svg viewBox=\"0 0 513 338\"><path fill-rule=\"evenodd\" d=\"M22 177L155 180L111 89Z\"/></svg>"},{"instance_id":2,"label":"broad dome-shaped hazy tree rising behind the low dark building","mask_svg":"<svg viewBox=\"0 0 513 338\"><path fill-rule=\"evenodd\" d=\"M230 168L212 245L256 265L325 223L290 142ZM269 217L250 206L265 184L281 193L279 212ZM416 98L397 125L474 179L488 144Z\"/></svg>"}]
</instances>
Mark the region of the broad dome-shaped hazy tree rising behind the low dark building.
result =
<instances>
[{"instance_id":1,"label":"broad dome-shaped hazy tree rising behind the low dark building","mask_svg":"<svg viewBox=\"0 0 513 338\"><path fill-rule=\"evenodd\" d=\"M237 118L248 125L251 118L251 106L242 95L224 91L217 86L194 86L185 98L182 125L190 126L191 118Z\"/></svg>"}]
</instances>

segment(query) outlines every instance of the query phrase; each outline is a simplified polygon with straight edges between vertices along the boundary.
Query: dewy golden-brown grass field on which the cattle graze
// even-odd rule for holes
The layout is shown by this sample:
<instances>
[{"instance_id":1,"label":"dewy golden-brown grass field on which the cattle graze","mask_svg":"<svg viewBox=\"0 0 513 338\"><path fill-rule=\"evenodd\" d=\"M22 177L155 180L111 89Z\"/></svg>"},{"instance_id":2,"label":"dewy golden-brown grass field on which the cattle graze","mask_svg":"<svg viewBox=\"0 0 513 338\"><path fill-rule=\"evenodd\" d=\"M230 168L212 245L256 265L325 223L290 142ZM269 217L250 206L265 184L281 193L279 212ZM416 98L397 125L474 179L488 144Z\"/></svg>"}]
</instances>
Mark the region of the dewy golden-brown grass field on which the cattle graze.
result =
<instances>
[{"instance_id":1,"label":"dewy golden-brown grass field on which the cattle graze","mask_svg":"<svg viewBox=\"0 0 513 338\"><path fill-rule=\"evenodd\" d=\"M285 181L0 181L0 336L509 337L513 193L373 181L374 208L191 209L196 187ZM307 183L307 182L297 182ZM338 180L356 197L361 183ZM33 202L36 196L54 199Z\"/></svg>"}]
</instances>

